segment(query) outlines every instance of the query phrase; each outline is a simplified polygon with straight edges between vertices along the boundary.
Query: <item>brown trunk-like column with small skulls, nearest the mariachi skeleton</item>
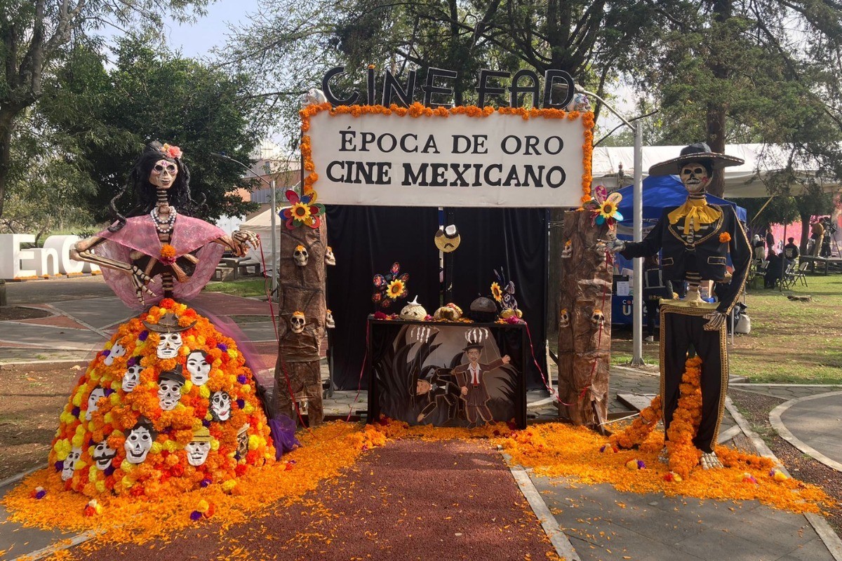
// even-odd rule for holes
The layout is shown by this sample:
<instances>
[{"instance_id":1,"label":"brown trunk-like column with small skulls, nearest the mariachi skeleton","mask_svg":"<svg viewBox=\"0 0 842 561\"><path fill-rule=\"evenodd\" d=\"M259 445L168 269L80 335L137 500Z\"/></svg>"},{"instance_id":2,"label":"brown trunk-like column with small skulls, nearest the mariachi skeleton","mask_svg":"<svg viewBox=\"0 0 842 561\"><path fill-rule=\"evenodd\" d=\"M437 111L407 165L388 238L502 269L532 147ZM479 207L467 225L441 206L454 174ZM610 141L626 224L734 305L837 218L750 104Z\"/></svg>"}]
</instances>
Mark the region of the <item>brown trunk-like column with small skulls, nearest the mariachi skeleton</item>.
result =
<instances>
[{"instance_id":1,"label":"brown trunk-like column with small skulls, nearest the mariachi skeleton","mask_svg":"<svg viewBox=\"0 0 842 561\"><path fill-rule=\"evenodd\" d=\"M559 416L597 427L608 419L613 265L598 240L605 225L591 225L588 212L565 213L558 324ZM568 245L569 242L569 245Z\"/></svg>"}]
</instances>

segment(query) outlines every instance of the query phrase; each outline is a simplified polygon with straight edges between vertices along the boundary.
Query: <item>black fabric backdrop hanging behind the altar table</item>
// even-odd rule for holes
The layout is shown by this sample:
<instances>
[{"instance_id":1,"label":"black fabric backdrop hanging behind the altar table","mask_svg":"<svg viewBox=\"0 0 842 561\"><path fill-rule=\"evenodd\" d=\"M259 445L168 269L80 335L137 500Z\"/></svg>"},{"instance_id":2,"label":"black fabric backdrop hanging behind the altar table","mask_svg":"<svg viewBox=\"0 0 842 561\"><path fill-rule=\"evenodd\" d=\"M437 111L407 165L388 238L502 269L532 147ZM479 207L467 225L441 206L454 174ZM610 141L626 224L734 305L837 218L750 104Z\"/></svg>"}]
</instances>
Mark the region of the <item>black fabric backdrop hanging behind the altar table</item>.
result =
<instances>
[{"instance_id":1,"label":"black fabric backdrop hanging behind the altar table","mask_svg":"<svg viewBox=\"0 0 842 561\"><path fill-rule=\"evenodd\" d=\"M409 273L408 299L386 313L399 313L418 295L432 314L439 307L439 229L436 208L327 205L328 244L337 264L328 267L328 308L336 328L329 332L333 382L337 389L366 389L360 381L365 357L366 320L372 277L386 274L393 262ZM529 323L535 354L546 373L547 212L546 209L450 209L461 234L453 256L453 301L467 311L477 295L490 295L493 269L505 267L514 281L515 298ZM528 389L543 387L534 364L527 365Z\"/></svg>"}]
</instances>

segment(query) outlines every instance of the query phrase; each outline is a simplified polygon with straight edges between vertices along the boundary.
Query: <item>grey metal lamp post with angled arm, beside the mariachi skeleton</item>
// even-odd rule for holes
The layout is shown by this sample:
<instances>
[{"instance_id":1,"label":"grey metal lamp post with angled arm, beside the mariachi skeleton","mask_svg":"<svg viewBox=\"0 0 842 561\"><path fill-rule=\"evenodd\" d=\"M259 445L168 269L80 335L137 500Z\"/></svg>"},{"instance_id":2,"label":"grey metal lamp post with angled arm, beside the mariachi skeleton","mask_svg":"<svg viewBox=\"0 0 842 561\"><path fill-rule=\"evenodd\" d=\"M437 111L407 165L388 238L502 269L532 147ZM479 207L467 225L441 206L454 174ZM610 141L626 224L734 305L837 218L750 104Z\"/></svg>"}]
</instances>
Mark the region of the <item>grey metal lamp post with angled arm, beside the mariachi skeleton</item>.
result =
<instances>
[{"instance_id":1,"label":"grey metal lamp post with angled arm, beside the mariachi skeleton","mask_svg":"<svg viewBox=\"0 0 842 561\"><path fill-rule=\"evenodd\" d=\"M632 214L634 216L632 232L634 241L642 241L643 239L643 130L640 121L632 124L627 121L621 114L617 113L615 108L611 107L605 99L595 93L585 90L583 87L576 85L576 91L592 96L605 105L611 113L615 114L618 119L622 121L634 134L634 188ZM635 119L632 119L635 120ZM635 294L632 298L632 366L642 366L643 362L643 259L637 257L634 260L632 269L632 280L634 284Z\"/></svg>"}]
</instances>

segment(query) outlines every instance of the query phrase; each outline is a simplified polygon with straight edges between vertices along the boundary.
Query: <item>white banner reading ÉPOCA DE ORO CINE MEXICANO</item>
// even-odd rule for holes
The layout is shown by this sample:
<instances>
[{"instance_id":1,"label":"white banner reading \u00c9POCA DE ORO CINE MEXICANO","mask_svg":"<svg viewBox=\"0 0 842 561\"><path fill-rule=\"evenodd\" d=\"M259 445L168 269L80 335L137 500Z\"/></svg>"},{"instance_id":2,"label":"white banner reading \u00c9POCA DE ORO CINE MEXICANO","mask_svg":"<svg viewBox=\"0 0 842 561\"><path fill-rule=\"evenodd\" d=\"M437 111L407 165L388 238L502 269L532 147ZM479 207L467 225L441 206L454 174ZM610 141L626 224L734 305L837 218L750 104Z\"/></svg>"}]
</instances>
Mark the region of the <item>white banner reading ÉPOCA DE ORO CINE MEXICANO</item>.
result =
<instances>
[{"instance_id":1,"label":"white banner reading \u00c9POCA DE ORO CINE MEXICANO","mask_svg":"<svg viewBox=\"0 0 842 561\"><path fill-rule=\"evenodd\" d=\"M313 188L326 204L578 207L585 132L581 117L321 111Z\"/></svg>"}]
</instances>

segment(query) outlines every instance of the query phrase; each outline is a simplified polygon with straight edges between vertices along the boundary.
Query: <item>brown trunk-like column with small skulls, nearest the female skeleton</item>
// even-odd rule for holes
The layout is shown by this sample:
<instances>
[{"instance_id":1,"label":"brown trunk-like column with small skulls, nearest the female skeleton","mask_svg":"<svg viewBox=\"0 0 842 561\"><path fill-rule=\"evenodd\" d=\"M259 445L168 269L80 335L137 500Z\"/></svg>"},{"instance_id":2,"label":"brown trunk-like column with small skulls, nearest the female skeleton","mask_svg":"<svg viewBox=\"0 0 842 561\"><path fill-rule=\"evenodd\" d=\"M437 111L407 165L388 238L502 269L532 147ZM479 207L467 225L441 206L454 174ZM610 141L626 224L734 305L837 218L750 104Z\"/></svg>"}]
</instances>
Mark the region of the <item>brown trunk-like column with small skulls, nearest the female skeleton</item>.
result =
<instances>
[{"instance_id":1,"label":"brown trunk-like column with small skulls, nearest the female skeleton","mask_svg":"<svg viewBox=\"0 0 842 561\"><path fill-rule=\"evenodd\" d=\"M310 426L322 422L322 375L320 349L325 336L325 262L328 225L322 217L318 228L280 227L278 269L278 362L274 367L274 414L297 419L293 404L306 401ZM306 264L296 262L306 251ZM293 320L304 315L304 330L296 333ZM291 394L291 395L290 395ZM303 411L302 411L303 413Z\"/></svg>"}]
</instances>

